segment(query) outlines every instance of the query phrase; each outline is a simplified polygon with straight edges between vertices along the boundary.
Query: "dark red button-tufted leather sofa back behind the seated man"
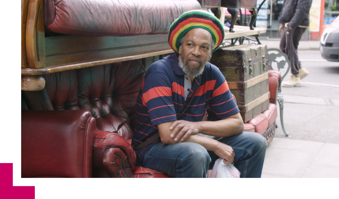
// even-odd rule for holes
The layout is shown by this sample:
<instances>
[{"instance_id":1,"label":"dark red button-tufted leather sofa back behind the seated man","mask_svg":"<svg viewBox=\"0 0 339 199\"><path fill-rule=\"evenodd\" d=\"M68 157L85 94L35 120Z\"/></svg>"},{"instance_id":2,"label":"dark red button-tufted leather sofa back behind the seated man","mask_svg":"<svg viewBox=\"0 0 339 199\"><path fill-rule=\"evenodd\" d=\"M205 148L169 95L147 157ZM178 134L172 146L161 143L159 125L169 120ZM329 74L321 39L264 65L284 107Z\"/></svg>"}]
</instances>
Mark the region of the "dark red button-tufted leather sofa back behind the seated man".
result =
<instances>
[{"instance_id":1,"label":"dark red button-tufted leather sofa back behind the seated man","mask_svg":"<svg viewBox=\"0 0 339 199\"><path fill-rule=\"evenodd\" d=\"M29 110L88 110L97 121L96 130L114 132L133 115L144 73L142 64L133 60L47 74L42 91L22 95ZM118 133L131 140L133 126L128 122Z\"/></svg>"}]
</instances>

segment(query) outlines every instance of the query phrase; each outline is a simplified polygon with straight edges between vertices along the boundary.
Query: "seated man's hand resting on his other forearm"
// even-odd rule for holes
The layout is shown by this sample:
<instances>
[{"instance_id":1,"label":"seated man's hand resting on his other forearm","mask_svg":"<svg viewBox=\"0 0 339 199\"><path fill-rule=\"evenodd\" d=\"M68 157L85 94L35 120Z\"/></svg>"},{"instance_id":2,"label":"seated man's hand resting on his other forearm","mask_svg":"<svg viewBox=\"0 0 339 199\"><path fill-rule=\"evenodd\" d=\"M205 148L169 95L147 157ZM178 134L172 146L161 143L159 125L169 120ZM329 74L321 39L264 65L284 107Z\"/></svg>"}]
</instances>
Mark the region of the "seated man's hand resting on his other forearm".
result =
<instances>
[{"instance_id":1,"label":"seated man's hand resting on his other forearm","mask_svg":"<svg viewBox=\"0 0 339 199\"><path fill-rule=\"evenodd\" d=\"M172 131L171 138L175 138L174 141L185 141L190 135L195 135L199 133L199 128L197 123L188 122L184 120L179 120L173 122L169 130Z\"/></svg>"}]
</instances>

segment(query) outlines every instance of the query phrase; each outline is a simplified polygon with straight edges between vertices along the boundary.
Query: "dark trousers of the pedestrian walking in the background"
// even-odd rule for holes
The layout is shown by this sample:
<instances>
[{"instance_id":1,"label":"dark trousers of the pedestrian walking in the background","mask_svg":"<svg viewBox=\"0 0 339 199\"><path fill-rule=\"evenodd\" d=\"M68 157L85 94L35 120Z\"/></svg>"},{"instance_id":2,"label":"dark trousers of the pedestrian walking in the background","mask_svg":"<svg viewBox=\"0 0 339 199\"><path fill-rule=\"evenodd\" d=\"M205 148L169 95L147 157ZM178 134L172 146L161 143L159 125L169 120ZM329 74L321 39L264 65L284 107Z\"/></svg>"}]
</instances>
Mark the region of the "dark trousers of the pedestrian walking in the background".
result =
<instances>
[{"instance_id":1,"label":"dark trousers of the pedestrian walking in the background","mask_svg":"<svg viewBox=\"0 0 339 199\"><path fill-rule=\"evenodd\" d=\"M306 28L300 28L299 26L293 30L291 30L290 27L285 27L281 35L280 50L285 53L288 60L291 61L291 73L293 75L299 75L299 69L301 68L298 58L298 46L305 30Z\"/></svg>"}]
</instances>

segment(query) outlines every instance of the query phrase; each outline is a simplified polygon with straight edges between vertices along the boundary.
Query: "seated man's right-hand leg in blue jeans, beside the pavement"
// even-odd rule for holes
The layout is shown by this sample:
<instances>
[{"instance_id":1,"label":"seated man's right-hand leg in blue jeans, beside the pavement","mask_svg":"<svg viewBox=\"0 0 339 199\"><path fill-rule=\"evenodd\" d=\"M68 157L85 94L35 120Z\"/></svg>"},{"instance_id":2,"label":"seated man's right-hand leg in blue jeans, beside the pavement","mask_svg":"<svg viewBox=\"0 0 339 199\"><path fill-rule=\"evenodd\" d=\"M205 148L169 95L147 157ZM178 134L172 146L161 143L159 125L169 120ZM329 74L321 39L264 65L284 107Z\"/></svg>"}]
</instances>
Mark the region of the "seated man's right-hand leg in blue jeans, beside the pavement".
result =
<instances>
[{"instance_id":1,"label":"seated man's right-hand leg in blue jeans, beside the pavement","mask_svg":"<svg viewBox=\"0 0 339 199\"><path fill-rule=\"evenodd\" d=\"M263 136L258 133L243 132L240 135L217 140L233 148L234 166L240 171L241 178L261 177L267 148L267 141ZM210 169L213 169L219 157L213 151L208 151L208 153L212 159Z\"/></svg>"}]
</instances>

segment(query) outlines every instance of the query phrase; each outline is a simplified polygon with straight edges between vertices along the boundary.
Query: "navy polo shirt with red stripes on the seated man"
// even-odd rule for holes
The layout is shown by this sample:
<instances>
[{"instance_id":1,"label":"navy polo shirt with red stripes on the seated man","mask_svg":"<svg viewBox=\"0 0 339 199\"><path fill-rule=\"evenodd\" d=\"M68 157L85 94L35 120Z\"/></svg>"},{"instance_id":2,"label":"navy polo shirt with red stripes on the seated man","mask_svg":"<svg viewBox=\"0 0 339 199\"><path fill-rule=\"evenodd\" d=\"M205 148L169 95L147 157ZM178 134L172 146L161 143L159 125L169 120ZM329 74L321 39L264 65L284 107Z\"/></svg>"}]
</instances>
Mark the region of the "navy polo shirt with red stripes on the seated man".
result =
<instances>
[{"instance_id":1,"label":"navy polo shirt with red stripes on the seated man","mask_svg":"<svg viewBox=\"0 0 339 199\"><path fill-rule=\"evenodd\" d=\"M195 78L185 100L185 73L178 64L178 54L173 53L148 68L137 99L133 148L156 134L158 124L176 121L190 103L196 89L198 91L193 102L180 120L200 122L208 106L221 119L240 112L225 77L210 63L205 66L204 79L200 79L200 76ZM159 138L144 149L136 151L137 158L142 161L145 153L160 142Z\"/></svg>"}]
</instances>

